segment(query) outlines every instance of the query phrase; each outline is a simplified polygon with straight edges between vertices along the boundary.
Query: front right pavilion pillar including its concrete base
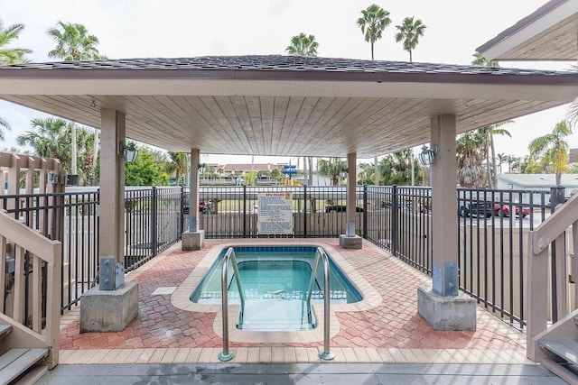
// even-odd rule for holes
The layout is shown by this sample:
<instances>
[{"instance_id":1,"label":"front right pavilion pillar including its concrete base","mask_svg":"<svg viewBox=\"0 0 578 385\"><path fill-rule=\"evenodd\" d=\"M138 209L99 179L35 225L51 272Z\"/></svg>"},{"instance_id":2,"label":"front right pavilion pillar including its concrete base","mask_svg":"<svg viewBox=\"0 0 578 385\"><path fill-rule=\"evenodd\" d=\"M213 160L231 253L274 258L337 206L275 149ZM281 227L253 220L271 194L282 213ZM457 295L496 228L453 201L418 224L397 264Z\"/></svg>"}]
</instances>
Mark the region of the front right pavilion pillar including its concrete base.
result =
<instances>
[{"instance_id":1,"label":"front right pavilion pillar including its concrete base","mask_svg":"<svg viewBox=\"0 0 578 385\"><path fill-rule=\"evenodd\" d=\"M476 301L459 293L455 115L431 118L432 288L417 289L417 311L434 330L475 330Z\"/></svg>"}]
</instances>

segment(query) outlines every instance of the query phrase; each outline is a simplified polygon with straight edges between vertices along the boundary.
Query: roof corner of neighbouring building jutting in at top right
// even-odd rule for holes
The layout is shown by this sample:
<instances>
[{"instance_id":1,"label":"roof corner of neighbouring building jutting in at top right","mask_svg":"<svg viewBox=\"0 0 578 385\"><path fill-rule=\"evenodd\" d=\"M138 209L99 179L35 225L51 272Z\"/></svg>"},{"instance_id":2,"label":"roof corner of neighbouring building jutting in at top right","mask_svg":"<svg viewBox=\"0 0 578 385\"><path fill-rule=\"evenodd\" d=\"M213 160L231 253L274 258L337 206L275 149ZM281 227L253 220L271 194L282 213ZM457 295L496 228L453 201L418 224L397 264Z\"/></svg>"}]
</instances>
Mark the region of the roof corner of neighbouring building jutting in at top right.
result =
<instances>
[{"instance_id":1,"label":"roof corner of neighbouring building jutting in at top right","mask_svg":"<svg viewBox=\"0 0 578 385\"><path fill-rule=\"evenodd\" d=\"M578 60L578 0L551 0L476 50L488 60Z\"/></svg>"}]
</instances>

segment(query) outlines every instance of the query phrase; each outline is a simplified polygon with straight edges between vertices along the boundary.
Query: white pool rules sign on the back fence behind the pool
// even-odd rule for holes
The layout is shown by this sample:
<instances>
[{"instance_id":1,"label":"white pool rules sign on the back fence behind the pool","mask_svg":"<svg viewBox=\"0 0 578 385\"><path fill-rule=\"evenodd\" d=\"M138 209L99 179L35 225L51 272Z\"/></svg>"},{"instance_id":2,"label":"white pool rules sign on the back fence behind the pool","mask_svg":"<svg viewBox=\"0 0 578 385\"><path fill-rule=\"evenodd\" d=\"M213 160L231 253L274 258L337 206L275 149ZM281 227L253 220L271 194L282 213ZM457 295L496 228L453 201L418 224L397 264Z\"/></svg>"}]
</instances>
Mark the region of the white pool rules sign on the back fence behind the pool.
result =
<instances>
[{"instance_id":1,"label":"white pool rules sign on the back fence behind the pool","mask_svg":"<svg viewBox=\"0 0 578 385\"><path fill-rule=\"evenodd\" d=\"M293 197L291 193L261 193L256 217L258 234L293 234Z\"/></svg>"}]
</instances>

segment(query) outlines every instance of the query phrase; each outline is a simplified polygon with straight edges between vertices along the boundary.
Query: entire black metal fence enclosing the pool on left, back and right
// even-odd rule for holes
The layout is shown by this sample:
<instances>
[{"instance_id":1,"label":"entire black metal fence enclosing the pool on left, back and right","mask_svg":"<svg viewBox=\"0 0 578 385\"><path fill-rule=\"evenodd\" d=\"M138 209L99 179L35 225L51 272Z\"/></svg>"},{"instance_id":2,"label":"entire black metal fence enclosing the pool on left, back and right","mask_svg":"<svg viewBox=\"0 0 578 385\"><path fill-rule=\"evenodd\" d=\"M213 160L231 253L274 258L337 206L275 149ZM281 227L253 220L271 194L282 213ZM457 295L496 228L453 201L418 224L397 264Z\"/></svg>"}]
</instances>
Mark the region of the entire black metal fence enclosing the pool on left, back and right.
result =
<instances>
[{"instance_id":1,"label":"entire black metal fence enclosing the pool on left, back and right","mask_svg":"<svg viewBox=\"0 0 578 385\"><path fill-rule=\"evenodd\" d=\"M267 237L257 232L258 196L280 191L293 199L294 234L285 236L345 233L345 187L201 187L195 207L200 229L207 238ZM447 213L459 218L461 289L518 327L525 325L527 232L550 215L548 198L547 192L459 189L455 211ZM0 204L26 225L61 240L61 308L77 303L98 273L98 190L5 195ZM431 275L432 239L443 231L432 228L431 206L431 188L359 186L357 234ZM186 188L127 188L126 270L177 243L191 209Z\"/></svg>"}]
</instances>

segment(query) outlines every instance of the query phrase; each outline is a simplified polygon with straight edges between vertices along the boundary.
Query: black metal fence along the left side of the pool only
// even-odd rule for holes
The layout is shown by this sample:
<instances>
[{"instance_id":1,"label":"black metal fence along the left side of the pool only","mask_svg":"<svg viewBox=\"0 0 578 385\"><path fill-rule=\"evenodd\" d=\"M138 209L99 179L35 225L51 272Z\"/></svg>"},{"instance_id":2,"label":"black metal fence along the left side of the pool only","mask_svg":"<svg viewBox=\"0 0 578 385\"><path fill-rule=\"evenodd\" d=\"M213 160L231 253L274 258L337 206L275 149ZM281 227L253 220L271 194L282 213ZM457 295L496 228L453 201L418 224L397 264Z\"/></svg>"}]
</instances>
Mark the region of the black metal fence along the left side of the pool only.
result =
<instances>
[{"instance_id":1,"label":"black metal fence along the left side of the pool only","mask_svg":"<svg viewBox=\"0 0 578 385\"><path fill-rule=\"evenodd\" d=\"M68 188L56 194L0 196L0 206L23 224L62 243L61 311L79 302L98 275L98 189ZM181 239L182 188L127 188L125 268L134 270ZM28 261L25 253L25 261ZM24 267L25 288L33 272ZM45 281L45 280L44 280ZM5 288L9 300L11 288ZM42 308L45 308L45 291ZM24 304L24 319L29 312Z\"/></svg>"}]
</instances>

